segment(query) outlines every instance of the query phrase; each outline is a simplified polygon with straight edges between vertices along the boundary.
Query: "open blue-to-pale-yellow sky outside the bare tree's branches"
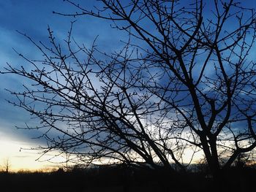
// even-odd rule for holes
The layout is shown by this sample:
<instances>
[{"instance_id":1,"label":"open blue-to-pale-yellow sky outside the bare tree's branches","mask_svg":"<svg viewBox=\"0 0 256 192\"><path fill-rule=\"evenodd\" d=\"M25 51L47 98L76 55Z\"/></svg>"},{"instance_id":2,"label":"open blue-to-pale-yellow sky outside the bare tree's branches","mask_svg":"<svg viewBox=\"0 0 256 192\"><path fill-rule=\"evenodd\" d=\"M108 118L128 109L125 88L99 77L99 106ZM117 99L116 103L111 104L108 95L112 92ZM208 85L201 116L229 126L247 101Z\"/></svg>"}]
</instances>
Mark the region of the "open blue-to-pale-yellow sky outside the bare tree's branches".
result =
<instances>
[{"instance_id":1,"label":"open blue-to-pale-yellow sky outside the bare tree's branches","mask_svg":"<svg viewBox=\"0 0 256 192\"><path fill-rule=\"evenodd\" d=\"M87 7L94 6L96 0L80 1ZM249 7L256 7L256 0L243 0ZM53 28L56 37L65 39L70 21L75 23L73 36L79 42L91 45L95 37L97 44L106 51L113 51L121 47L119 40L127 38L124 34L110 28L110 23L95 18L69 18L54 15L56 12L72 12L74 7L63 0L0 0L0 71L10 63L14 66L23 64L23 60L12 50L18 50L29 58L38 58L34 47L18 31L28 34L36 42L48 40L48 25ZM49 164L38 162L35 151L21 150L36 147L44 143L39 139L38 132L24 131L15 126L24 126L31 122L27 112L8 104L6 99L12 99L4 88L19 90L23 79L11 75L0 75L0 166L4 159L9 158L11 169L40 169Z\"/></svg>"}]
</instances>

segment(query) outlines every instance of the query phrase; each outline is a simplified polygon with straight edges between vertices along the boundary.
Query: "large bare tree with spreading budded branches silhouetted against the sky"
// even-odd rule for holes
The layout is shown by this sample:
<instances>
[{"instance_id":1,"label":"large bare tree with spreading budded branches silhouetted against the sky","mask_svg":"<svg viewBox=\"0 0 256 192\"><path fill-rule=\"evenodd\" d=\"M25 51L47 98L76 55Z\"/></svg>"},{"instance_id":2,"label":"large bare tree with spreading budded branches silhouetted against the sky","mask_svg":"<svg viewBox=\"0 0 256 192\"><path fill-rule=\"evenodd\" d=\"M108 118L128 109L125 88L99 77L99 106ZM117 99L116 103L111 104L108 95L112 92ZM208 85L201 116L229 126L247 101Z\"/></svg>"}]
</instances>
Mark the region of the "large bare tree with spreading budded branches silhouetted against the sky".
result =
<instances>
[{"instance_id":1,"label":"large bare tree with spreading budded branches silhouetted against the sky","mask_svg":"<svg viewBox=\"0 0 256 192\"><path fill-rule=\"evenodd\" d=\"M10 91L18 99L10 103L39 118L27 128L45 129L45 153L175 172L186 168L189 150L190 161L203 152L217 176L254 150L254 9L233 0L101 0L95 10L67 2L78 12L57 14L111 20L129 39L107 54L76 42L72 26L63 45L50 28L50 46L23 34L43 58L20 54L31 66L9 64L4 73L34 82Z\"/></svg>"}]
</instances>

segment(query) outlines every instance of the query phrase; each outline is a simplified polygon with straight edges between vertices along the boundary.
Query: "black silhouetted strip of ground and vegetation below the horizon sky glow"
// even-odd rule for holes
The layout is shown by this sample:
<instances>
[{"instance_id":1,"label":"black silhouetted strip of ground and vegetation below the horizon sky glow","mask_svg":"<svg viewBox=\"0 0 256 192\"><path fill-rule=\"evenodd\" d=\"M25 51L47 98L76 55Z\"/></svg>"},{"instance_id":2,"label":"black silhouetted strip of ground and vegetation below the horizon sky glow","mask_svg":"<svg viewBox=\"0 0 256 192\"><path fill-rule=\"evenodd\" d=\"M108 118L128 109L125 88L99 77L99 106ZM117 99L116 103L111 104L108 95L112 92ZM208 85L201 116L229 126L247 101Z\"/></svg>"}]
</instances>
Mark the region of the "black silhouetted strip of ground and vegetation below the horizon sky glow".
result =
<instances>
[{"instance_id":1,"label":"black silhouetted strip of ground and vegetation below the horizon sky glow","mask_svg":"<svg viewBox=\"0 0 256 192\"><path fill-rule=\"evenodd\" d=\"M195 172L197 171L197 172ZM165 169L132 169L124 166L75 167L69 172L0 173L1 191L254 191L256 169L232 167L214 181L211 174L190 170L172 175Z\"/></svg>"}]
</instances>

